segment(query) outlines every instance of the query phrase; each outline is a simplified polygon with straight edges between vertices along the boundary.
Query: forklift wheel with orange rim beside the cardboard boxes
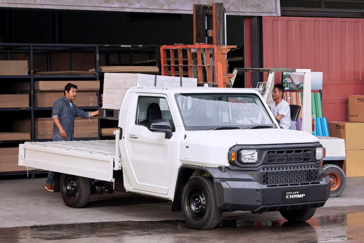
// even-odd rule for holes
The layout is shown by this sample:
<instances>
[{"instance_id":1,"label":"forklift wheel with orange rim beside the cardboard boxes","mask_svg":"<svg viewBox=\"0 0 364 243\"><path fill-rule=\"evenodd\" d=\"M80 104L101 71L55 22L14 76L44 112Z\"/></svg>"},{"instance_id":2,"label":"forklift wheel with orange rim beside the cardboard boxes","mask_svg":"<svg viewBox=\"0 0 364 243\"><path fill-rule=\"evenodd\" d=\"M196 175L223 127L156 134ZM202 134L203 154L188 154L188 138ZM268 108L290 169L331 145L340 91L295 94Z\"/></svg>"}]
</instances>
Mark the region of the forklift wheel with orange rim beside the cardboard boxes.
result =
<instances>
[{"instance_id":1,"label":"forklift wheel with orange rim beside the cardboard boxes","mask_svg":"<svg viewBox=\"0 0 364 243\"><path fill-rule=\"evenodd\" d=\"M334 164L326 164L323 165L322 168L324 169L324 173L330 176L330 197L340 196L346 187L346 176L344 171Z\"/></svg>"}]
</instances>

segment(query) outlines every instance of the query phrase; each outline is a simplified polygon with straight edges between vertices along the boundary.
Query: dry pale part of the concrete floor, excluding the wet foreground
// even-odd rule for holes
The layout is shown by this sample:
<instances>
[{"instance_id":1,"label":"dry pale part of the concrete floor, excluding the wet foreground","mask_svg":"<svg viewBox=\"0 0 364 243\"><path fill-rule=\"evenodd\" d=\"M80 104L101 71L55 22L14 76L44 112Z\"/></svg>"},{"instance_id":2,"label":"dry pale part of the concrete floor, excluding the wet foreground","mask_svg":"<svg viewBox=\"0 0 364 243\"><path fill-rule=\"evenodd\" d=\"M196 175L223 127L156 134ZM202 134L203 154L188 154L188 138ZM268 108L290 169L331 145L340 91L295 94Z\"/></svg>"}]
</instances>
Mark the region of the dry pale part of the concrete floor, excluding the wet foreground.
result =
<instances>
[{"instance_id":1,"label":"dry pale part of the concrete floor, excluding the wet foreground","mask_svg":"<svg viewBox=\"0 0 364 243\"><path fill-rule=\"evenodd\" d=\"M91 223L110 221L183 220L182 213L171 212L171 202L114 192L92 195L85 208L69 208L59 192L44 188L45 178L0 180L0 228L49 224ZM347 179L340 197L330 198L315 216L364 205L364 177ZM226 212L223 219L282 219L277 212L252 215L250 212Z\"/></svg>"}]
</instances>

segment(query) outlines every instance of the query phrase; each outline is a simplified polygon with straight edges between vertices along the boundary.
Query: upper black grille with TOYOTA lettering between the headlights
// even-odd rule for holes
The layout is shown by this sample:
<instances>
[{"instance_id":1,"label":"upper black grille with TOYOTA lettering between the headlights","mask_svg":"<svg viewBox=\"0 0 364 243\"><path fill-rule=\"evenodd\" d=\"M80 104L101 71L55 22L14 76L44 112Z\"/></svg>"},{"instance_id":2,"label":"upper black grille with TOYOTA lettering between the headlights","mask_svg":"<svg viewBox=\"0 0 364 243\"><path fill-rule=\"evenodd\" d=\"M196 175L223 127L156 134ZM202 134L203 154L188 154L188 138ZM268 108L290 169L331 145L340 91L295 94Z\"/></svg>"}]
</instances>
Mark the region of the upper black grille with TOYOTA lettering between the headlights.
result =
<instances>
[{"instance_id":1,"label":"upper black grille with TOYOTA lettering between the headlights","mask_svg":"<svg viewBox=\"0 0 364 243\"><path fill-rule=\"evenodd\" d=\"M268 150L266 161L268 164L309 162L312 160L311 153L312 149Z\"/></svg>"}]
</instances>

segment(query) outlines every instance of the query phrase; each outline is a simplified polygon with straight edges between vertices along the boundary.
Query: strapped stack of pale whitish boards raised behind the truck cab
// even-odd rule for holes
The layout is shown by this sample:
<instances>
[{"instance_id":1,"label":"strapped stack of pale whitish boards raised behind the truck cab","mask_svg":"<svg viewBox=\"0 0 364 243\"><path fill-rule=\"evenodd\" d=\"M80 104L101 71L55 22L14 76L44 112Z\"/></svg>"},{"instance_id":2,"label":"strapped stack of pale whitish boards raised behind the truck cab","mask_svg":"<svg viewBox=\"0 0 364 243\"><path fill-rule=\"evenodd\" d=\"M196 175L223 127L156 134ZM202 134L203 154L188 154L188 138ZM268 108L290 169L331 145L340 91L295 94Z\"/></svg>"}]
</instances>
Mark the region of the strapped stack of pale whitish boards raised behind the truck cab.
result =
<instances>
[{"instance_id":1,"label":"strapped stack of pale whitish boards raised behind the truck cab","mask_svg":"<svg viewBox=\"0 0 364 243\"><path fill-rule=\"evenodd\" d=\"M106 73L102 107L104 109L120 109L126 91L137 83L141 87L196 87L197 79L150 74Z\"/></svg>"}]
</instances>

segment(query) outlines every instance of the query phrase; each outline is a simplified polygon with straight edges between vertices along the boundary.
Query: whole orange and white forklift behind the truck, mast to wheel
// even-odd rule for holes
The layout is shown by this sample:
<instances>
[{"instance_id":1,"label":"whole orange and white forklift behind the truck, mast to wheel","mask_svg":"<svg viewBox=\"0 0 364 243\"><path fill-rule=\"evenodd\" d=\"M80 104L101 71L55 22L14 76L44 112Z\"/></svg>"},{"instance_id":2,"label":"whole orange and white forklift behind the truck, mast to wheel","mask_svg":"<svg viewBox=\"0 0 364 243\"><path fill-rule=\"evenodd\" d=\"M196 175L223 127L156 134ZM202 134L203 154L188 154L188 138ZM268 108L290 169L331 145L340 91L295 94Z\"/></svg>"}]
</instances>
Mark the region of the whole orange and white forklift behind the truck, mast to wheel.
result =
<instances>
[{"instance_id":1,"label":"whole orange and white forklift behind the truck, mast to wheel","mask_svg":"<svg viewBox=\"0 0 364 243\"><path fill-rule=\"evenodd\" d=\"M274 72L290 70L287 68L234 68L228 71L227 53L236 46L226 45L226 11L223 3L194 4L193 27L195 44L174 44L161 46L162 75L175 77L197 78L198 86L234 87L237 74L245 72L268 72L268 82L261 87L272 90L274 86ZM289 72L290 72L289 71ZM309 71L310 72L310 71ZM273 75L270 75L272 74ZM269 81L269 79L271 79ZM269 83L270 82L270 83ZM269 83L267 85L267 83ZM261 88L260 87L260 88ZM308 87L304 85L304 87ZM259 90L259 88L257 87ZM262 91L262 90L260 90ZM309 90L310 91L310 85ZM262 93L268 100L269 92ZM310 97L310 96L306 96ZM308 102L308 101L306 101ZM310 101L309 101L310 102ZM311 105L302 105L302 111L311 113ZM311 117L311 115L310 115ZM302 130L305 132L312 132ZM321 166L331 178L330 197L337 197L343 193L346 186L346 176L343 171L345 165L345 144L339 138L319 137L326 148L327 157ZM331 156L334 150L341 151L340 156Z\"/></svg>"}]
</instances>

